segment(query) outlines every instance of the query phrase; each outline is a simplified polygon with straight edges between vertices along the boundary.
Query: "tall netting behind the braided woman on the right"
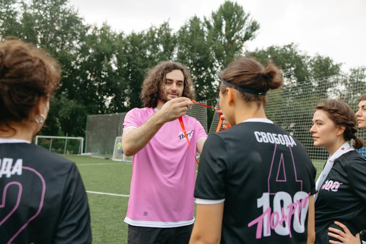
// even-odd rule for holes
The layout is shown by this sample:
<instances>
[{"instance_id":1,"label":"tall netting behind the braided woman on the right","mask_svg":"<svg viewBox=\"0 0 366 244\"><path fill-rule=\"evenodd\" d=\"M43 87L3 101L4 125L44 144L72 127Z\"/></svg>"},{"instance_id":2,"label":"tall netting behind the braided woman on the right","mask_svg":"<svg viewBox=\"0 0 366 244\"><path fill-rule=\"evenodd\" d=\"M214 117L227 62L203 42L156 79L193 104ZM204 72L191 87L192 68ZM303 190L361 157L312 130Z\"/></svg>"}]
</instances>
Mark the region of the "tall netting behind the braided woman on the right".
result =
<instances>
[{"instance_id":1,"label":"tall netting behind the braided woman on the right","mask_svg":"<svg viewBox=\"0 0 366 244\"><path fill-rule=\"evenodd\" d=\"M313 145L309 132L316 105L325 99L337 98L347 102L356 111L359 97L366 93L365 87L366 73L303 82L285 81L281 89L268 92L266 116L299 140L319 169L323 167L328 153L324 148ZM215 132L218 122L219 116L215 113L209 133ZM366 129L359 129L357 136L366 139ZM366 156L365 147L359 151Z\"/></svg>"}]
</instances>

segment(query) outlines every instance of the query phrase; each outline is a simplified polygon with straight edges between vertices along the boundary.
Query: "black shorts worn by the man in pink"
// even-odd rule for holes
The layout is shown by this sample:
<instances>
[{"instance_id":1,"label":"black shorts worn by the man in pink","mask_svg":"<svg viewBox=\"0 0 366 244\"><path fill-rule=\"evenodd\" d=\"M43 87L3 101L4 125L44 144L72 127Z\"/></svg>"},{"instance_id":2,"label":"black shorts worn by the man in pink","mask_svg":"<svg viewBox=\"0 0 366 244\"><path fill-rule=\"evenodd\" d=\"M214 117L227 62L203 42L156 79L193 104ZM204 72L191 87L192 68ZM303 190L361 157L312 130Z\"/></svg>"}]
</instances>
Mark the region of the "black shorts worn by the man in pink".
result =
<instances>
[{"instance_id":1,"label":"black shorts worn by the man in pink","mask_svg":"<svg viewBox=\"0 0 366 244\"><path fill-rule=\"evenodd\" d=\"M141 227L128 225L128 244L187 244L193 224L171 227Z\"/></svg>"}]
</instances>

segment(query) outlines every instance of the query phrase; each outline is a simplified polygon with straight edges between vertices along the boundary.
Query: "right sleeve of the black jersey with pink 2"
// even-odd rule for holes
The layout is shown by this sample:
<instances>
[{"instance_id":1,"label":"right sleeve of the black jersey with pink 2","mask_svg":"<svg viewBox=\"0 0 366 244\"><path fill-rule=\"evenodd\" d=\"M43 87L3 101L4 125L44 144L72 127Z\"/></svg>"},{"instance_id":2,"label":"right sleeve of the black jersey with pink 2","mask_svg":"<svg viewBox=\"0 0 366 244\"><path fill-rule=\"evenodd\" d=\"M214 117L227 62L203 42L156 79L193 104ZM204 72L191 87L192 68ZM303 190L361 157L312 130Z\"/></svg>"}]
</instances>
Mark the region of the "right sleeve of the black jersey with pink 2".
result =
<instances>
[{"instance_id":1,"label":"right sleeve of the black jersey with pink 2","mask_svg":"<svg viewBox=\"0 0 366 244\"><path fill-rule=\"evenodd\" d=\"M63 209L57 226L55 243L90 244L89 205L78 168L71 167L63 193Z\"/></svg>"}]
</instances>

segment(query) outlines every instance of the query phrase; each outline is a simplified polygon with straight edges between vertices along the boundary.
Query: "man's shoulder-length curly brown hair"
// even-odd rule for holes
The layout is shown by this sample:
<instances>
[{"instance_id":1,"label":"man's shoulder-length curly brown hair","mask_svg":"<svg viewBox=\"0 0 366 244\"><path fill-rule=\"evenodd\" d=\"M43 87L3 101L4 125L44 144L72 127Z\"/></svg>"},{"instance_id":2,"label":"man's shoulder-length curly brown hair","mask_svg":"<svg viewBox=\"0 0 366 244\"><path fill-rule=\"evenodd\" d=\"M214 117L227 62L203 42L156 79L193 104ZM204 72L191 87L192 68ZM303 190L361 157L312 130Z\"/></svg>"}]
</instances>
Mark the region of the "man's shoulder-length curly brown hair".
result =
<instances>
[{"instance_id":1,"label":"man's shoulder-length curly brown hair","mask_svg":"<svg viewBox=\"0 0 366 244\"><path fill-rule=\"evenodd\" d=\"M193 82L187 67L180 62L161 61L147 72L142 83L140 98L143 107L156 107L163 90L166 74L176 69L181 70L184 76L182 97L194 99Z\"/></svg>"}]
</instances>

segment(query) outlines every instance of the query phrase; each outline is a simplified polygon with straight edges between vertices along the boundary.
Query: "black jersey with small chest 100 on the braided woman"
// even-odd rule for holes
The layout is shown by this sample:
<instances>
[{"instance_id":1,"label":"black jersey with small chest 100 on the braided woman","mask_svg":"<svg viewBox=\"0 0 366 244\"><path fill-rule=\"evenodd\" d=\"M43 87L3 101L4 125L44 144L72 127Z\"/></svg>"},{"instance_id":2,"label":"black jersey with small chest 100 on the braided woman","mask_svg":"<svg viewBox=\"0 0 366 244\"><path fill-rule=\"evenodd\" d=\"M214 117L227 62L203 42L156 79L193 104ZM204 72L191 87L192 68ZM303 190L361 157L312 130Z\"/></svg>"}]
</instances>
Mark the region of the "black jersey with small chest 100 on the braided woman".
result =
<instances>
[{"instance_id":1,"label":"black jersey with small chest 100 on the braided woman","mask_svg":"<svg viewBox=\"0 0 366 244\"><path fill-rule=\"evenodd\" d=\"M328 227L345 224L353 235L366 228L366 161L350 151L334 161L315 202L315 243L329 243ZM333 239L334 240L334 239Z\"/></svg>"}]
</instances>

